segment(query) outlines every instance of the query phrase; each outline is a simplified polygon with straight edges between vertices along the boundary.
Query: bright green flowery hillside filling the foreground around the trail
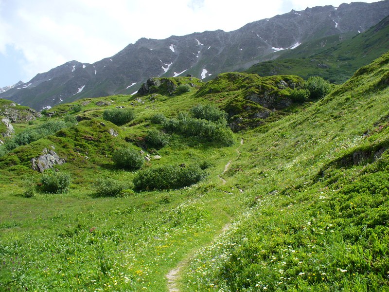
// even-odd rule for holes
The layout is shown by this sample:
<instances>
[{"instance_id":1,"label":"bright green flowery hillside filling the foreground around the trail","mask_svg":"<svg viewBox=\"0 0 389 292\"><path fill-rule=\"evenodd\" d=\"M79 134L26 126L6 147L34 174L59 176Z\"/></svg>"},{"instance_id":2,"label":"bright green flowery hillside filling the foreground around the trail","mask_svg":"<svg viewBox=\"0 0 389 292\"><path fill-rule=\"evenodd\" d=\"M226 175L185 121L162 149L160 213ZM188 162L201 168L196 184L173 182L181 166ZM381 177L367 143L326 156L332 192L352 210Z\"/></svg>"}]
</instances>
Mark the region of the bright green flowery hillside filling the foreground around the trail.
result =
<instances>
[{"instance_id":1,"label":"bright green flowery hillside filling the foreground around the trail","mask_svg":"<svg viewBox=\"0 0 389 292\"><path fill-rule=\"evenodd\" d=\"M0 289L388 291L389 53L320 100L259 104L283 102L301 80L226 73L178 95L46 111L31 129L79 122L0 158ZM227 121L218 109L234 103L243 111ZM232 134L227 123L248 107L271 114ZM127 109L135 117L124 125L104 119ZM166 143L152 144L152 131ZM141 169L114 164L128 147L148 158ZM71 177L68 192L42 191L31 158L44 148L66 160L55 168ZM202 179L154 187L172 169ZM103 192L112 185L115 196Z\"/></svg>"}]
</instances>

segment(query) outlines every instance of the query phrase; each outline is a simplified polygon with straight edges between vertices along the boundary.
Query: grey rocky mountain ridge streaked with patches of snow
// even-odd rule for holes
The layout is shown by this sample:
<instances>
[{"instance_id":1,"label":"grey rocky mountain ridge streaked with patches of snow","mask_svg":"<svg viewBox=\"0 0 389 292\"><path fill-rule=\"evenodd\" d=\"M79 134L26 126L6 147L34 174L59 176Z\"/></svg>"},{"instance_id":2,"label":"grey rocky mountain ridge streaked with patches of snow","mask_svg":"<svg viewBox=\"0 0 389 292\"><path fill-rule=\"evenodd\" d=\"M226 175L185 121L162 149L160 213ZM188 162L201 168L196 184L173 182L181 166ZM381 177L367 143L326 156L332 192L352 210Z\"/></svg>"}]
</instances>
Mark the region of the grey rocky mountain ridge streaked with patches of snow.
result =
<instances>
[{"instance_id":1,"label":"grey rocky mountain ridge streaked with patches of snow","mask_svg":"<svg viewBox=\"0 0 389 292\"><path fill-rule=\"evenodd\" d=\"M1 93L0 98L41 110L84 97L132 94L149 77L192 74L207 80L276 58L284 49L307 41L352 37L388 15L389 0L353 2L292 10L232 32L206 31L163 40L141 38L96 63L71 61L38 74L19 90Z\"/></svg>"}]
</instances>

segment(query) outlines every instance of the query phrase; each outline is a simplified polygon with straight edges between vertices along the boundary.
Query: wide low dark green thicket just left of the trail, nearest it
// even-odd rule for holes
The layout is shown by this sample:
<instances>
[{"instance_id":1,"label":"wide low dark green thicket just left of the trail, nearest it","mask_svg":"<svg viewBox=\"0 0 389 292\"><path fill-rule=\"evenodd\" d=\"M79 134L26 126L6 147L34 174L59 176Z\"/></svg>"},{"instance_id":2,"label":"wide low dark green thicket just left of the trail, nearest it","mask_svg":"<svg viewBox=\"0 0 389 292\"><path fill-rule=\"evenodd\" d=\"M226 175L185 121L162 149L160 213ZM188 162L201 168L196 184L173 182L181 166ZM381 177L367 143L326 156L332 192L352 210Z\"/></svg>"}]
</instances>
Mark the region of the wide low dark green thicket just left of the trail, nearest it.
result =
<instances>
[{"instance_id":1,"label":"wide low dark green thicket just left of the trail, nearest it","mask_svg":"<svg viewBox=\"0 0 389 292\"><path fill-rule=\"evenodd\" d=\"M189 186L204 177L205 172L198 165L163 165L139 171L133 182L137 190L164 190Z\"/></svg>"}]
</instances>

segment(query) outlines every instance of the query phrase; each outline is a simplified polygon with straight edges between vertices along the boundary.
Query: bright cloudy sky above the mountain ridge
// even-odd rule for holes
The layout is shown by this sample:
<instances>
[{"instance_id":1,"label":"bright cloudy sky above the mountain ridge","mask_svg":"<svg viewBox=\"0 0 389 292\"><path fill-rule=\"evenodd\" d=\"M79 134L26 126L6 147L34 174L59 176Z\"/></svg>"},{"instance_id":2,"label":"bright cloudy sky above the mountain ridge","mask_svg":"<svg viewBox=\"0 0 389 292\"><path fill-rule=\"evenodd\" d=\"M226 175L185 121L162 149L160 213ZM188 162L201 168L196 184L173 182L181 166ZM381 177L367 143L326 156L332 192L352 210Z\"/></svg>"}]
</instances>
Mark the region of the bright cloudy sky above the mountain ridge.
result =
<instances>
[{"instance_id":1,"label":"bright cloudy sky above the mountain ridge","mask_svg":"<svg viewBox=\"0 0 389 292\"><path fill-rule=\"evenodd\" d=\"M292 9L343 2L351 1L0 0L0 87L67 61L96 62L141 37L232 31Z\"/></svg>"}]
</instances>

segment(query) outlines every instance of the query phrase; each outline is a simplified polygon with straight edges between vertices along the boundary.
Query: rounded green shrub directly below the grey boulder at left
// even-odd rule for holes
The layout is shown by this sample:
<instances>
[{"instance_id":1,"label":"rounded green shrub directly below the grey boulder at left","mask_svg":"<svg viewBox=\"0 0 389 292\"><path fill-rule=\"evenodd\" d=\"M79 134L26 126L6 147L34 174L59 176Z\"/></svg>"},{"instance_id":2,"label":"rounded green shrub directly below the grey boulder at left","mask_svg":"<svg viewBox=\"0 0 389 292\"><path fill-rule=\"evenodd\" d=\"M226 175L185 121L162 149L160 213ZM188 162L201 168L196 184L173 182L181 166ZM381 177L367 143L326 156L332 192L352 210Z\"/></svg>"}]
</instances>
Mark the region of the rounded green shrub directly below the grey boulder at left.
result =
<instances>
[{"instance_id":1,"label":"rounded green shrub directly below the grey boulder at left","mask_svg":"<svg viewBox=\"0 0 389 292\"><path fill-rule=\"evenodd\" d=\"M69 190L71 177L69 174L46 170L41 177L41 189L46 193L66 193Z\"/></svg>"}]
</instances>

